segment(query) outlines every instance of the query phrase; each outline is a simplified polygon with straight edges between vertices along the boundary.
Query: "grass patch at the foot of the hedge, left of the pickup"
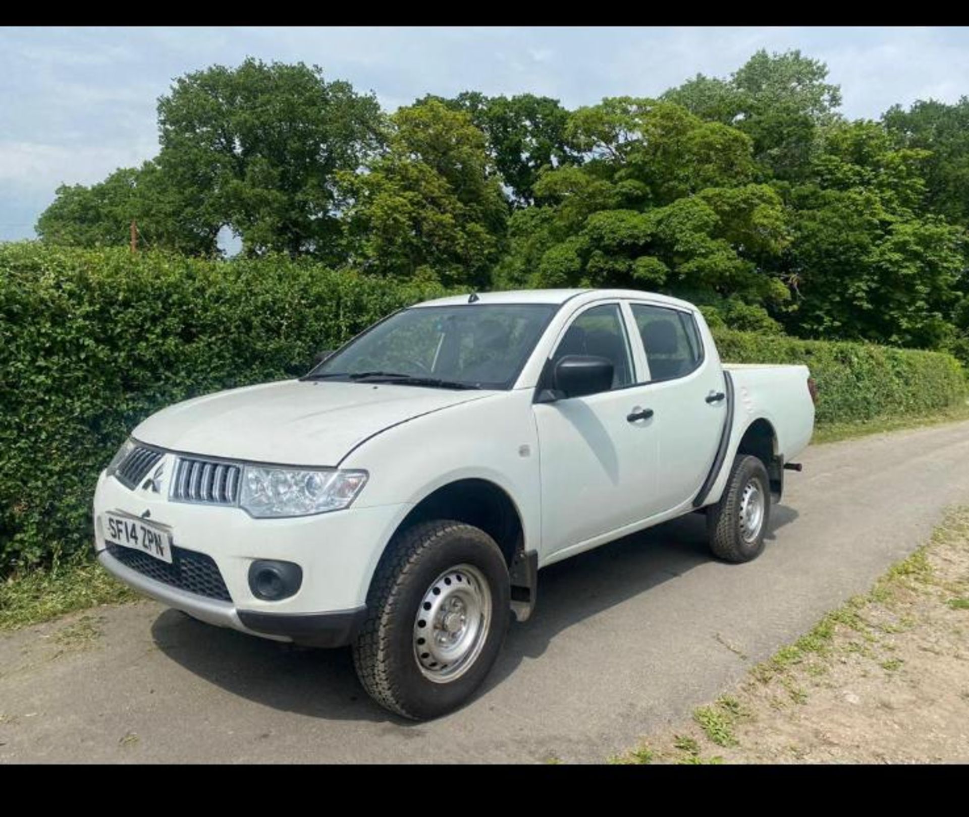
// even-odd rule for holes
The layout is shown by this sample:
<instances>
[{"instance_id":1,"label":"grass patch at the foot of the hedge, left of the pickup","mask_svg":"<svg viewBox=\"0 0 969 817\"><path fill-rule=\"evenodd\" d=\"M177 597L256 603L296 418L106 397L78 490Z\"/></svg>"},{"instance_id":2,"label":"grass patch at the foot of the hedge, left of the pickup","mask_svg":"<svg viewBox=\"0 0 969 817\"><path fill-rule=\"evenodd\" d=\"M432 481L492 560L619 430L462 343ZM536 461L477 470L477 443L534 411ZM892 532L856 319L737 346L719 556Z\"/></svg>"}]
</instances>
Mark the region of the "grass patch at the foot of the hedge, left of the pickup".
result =
<instances>
[{"instance_id":1,"label":"grass patch at the foot of the hedge, left of the pickup","mask_svg":"<svg viewBox=\"0 0 969 817\"><path fill-rule=\"evenodd\" d=\"M73 557L0 582L0 632L138 598L96 561Z\"/></svg>"}]
</instances>

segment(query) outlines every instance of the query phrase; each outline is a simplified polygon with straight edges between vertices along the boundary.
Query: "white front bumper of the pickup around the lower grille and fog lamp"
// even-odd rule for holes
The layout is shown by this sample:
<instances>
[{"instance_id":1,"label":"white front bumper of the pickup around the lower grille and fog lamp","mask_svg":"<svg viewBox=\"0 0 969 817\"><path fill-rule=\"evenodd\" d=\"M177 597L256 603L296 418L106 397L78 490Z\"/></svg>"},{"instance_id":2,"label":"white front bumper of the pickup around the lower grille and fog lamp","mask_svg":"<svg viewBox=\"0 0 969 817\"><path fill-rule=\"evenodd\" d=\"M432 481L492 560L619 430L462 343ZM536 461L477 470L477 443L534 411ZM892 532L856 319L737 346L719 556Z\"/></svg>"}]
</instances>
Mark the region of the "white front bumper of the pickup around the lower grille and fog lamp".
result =
<instances>
[{"instance_id":1,"label":"white front bumper of the pickup around the lower grille and fog lamp","mask_svg":"<svg viewBox=\"0 0 969 817\"><path fill-rule=\"evenodd\" d=\"M172 464L165 470L172 473ZM293 519L253 519L237 507L169 501L167 489L129 490L101 474L94 498L94 547L101 564L135 590L196 619L321 647L356 637L377 561L410 510L407 504L380 505ZM150 522L170 528L177 548L215 562L232 600L172 587L112 556L104 535L106 511L136 517L147 512ZM248 580L255 560L296 562L303 576L299 590L279 601L257 598Z\"/></svg>"}]
</instances>

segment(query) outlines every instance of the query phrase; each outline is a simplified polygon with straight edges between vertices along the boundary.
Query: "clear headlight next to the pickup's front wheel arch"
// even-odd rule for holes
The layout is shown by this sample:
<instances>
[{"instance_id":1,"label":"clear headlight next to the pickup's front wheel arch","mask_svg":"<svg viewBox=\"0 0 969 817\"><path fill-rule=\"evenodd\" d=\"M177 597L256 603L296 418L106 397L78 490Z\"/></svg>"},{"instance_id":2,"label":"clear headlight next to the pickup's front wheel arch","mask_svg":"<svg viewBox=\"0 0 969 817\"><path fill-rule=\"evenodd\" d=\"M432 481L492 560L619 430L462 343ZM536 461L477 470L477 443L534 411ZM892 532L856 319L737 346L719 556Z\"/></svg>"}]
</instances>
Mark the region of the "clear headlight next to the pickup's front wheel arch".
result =
<instances>
[{"instance_id":1,"label":"clear headlight next to the pickup's front wheel arch","mask_svg":"<svg viewBox=\"0 0 969 817\"><path fill-rule=\"evenodd\" d=\"M357 499L366 477L365 470L246 466L239 506L255 517L339 510Z\"/></svg>"}]
</instances>

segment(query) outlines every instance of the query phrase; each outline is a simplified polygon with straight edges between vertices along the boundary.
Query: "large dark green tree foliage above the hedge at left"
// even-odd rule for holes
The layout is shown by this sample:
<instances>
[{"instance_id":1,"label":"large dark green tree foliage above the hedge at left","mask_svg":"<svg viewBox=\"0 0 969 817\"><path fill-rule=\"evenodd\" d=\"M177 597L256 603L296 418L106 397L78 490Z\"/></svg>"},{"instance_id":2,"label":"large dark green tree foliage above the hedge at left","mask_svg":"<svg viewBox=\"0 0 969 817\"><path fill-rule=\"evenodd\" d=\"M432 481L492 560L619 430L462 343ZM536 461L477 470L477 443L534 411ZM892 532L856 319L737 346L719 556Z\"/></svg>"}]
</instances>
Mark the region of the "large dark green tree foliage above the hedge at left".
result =
<instances>
[{"instance_id":1,"label":"large dark green tree foliage above the hedge at left","mask_svg":"<svg viewBox=\"0 0 969 817\"><path fill-rule=\"evenodd\" d=\"M302 63L246 59L178 77L158 103L161 151L91 188L61 187L38 223L50 243L128 242L133 219L148 247L216 252L230 227L243 252L339 259L336 174L384 141L373 95L327 82Z\"/></svg>"}]
</instances>

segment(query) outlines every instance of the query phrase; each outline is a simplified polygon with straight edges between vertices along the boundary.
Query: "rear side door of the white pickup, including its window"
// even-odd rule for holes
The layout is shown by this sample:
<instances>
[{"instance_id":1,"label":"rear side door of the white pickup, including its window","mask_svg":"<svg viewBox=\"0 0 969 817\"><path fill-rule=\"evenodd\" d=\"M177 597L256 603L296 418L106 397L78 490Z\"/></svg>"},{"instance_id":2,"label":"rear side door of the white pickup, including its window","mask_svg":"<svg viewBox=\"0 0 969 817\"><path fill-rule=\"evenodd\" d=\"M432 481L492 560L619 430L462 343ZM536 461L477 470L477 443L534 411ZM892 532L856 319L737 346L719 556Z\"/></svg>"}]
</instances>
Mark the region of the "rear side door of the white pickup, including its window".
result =
<instances>
[{"instance_id":1,"label":"rear side door of the white pickup, including its window","mask_svg":"<svg viewBox=\"0 0 969 817\"><path fill-rule=\"evenodd\" d=\"M692 500L713 463L727 414L724 374L691 311L647 301L629 308L646 370L642 405L653 409L659 438L653 509L663 512Z\"/></svg>"}]
</instances>

